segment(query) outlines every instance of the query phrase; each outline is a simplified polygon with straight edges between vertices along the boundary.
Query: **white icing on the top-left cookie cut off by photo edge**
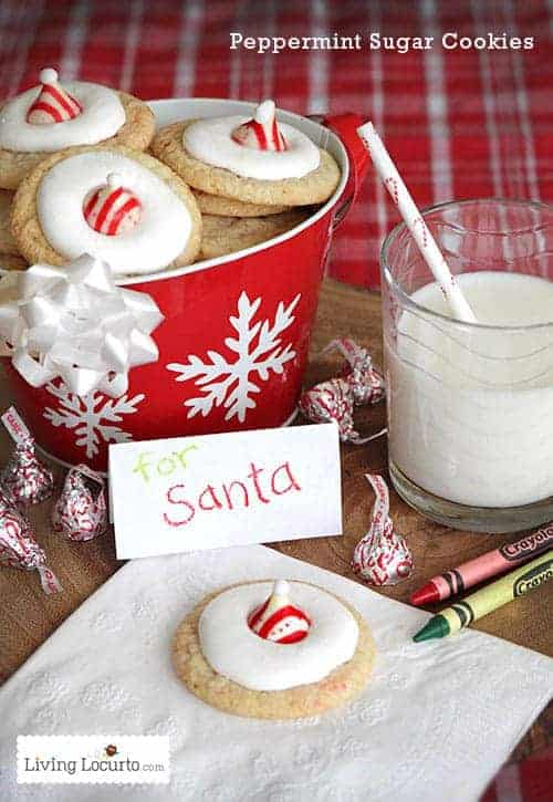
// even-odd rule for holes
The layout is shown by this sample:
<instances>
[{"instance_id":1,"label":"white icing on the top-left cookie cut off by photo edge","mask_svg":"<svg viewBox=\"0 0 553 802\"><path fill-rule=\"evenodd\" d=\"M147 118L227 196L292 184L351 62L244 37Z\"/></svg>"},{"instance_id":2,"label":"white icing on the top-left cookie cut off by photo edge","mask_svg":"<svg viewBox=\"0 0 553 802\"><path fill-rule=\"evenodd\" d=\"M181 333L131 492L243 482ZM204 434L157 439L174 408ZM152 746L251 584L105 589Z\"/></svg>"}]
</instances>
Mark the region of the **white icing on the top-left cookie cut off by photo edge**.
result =
<instances>
[{"instance_id":1,"label":"white icing on the top-left cookie cut off by photo edge","mask_svg":"<svg viewBox=\"0 0 553 802\"><path fill-rule=\"evenodd\" d=\"M29 106L42 86L33 86L9 101L0 112L0 147L21 153L53 153L73 145L96 145L115 136L126 115L113 90L83 81L70 81L63 87L83 106L73 119L51 125L27 122Z\"/></svg>"}]
</instances>

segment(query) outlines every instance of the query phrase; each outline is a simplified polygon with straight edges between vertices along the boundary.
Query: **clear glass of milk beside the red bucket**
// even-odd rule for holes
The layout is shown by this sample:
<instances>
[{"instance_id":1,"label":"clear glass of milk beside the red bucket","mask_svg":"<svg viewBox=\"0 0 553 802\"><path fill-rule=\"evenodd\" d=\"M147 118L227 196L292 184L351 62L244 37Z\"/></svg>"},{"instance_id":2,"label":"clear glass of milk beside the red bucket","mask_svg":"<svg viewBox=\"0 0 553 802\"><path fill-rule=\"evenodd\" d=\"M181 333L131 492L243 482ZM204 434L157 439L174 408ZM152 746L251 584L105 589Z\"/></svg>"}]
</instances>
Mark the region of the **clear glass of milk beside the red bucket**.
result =
<instances>
[{"instance_id":1,"label":"clear glass of milk beside the red bucket","mask_svg":"<svg viewBox=\"0 0 553 802\"><path fill-rule=\"evenodd\" d=\"M553 207L442 204L424 218L478 324L453 320L404 223L380 258L389 469L456 529L553 520Z\"/></svg>"}]
</instances>

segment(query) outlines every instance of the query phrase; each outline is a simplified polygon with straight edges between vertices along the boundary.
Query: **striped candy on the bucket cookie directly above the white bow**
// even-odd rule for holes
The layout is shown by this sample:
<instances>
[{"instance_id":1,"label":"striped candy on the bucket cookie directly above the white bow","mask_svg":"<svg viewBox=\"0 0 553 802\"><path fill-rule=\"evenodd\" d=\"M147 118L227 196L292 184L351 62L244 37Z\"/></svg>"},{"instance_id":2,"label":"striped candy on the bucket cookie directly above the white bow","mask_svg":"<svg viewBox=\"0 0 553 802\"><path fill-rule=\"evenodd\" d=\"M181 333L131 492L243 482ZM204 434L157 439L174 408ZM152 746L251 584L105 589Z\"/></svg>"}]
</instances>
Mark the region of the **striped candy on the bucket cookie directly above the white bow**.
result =
<instances>
[{"instance_id":1,"label":"striped candy on the bucket cookie directly above the white bow","mask_svg":"<svg viewBox=\"0 0 553 802\"><path fill-rule=\"evenodd\" d=\"M84 201L84 219L94 231L107 237L132 231L142 217L140 201L121 183L121 177L111 173L107 184L88 192Z\"/></svg>"}]
</instances>

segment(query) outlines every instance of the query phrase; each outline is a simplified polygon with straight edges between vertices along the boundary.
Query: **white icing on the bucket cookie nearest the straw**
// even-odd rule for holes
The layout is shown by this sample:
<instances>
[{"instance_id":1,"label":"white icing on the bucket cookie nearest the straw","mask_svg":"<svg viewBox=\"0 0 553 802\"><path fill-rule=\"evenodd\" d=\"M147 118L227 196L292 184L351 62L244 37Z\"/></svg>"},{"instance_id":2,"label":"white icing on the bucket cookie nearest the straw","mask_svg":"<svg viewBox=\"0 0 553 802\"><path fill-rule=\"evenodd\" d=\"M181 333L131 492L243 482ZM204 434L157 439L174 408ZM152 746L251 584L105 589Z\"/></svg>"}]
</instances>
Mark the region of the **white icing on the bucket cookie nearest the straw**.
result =
<instances>
[{"instance_id":1,"label":"white icing on the bucket cookie nearest the straw","mask_svg":"<svg viewBox=\"0 0 553 802\"><path fill-rule=\"evenodd\" d=\"M258 150L234 142L232 132L249 119L242 116L198 119L185 128L182 145L199 162L223 167L242 178L267 181L302 178L319 167L321 154L316 145L285 123L279 123L279 128L286 150Z\"/></svg>"}]
</instances>

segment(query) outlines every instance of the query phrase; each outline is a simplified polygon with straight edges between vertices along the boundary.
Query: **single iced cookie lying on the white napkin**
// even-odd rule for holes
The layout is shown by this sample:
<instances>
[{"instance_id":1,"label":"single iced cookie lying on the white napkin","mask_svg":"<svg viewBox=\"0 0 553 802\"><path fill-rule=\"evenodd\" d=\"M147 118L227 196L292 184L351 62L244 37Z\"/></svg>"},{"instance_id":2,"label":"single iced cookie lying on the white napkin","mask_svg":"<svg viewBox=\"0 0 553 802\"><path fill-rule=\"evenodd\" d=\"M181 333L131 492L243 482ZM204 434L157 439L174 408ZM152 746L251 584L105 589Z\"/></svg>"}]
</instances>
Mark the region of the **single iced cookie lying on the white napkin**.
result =
<instances>
[{"instance_id":1,"label":"single iced cookie lying on the white napkin","mask_svg":"<svg viewBox=\"0 0 553 802\"><path fill-rule=\"evenodd\" d=\"M177 675L225 712L316 716L358 696L375 647L361 615L305 582L249 582L212 593L180 623Z\"/></svg>"}]
</instances>

